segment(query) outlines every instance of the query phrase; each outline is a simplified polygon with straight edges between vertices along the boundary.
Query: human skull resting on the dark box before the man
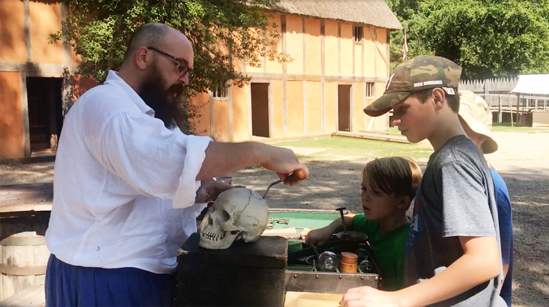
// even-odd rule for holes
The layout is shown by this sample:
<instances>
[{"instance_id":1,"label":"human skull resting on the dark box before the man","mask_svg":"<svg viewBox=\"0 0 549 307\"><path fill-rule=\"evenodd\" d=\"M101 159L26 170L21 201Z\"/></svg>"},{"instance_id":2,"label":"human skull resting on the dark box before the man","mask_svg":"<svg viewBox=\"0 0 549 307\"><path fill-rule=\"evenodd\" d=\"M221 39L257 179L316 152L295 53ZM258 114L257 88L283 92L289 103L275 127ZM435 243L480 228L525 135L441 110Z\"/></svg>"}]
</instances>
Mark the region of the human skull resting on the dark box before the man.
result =
<instances>
[{"instance_id":1,"label":"human skull resting on the dark box before the man","mask_svg":"<svg viewBox=\"0 0 549 307\"><path fill-rule=\"evenodd\" d=\"M269 208L259 194L235 188L221 193L213 203L198 245L205 249L228 249L235 240L253 242L267 227Z\"/></svg>"}]
</instances>

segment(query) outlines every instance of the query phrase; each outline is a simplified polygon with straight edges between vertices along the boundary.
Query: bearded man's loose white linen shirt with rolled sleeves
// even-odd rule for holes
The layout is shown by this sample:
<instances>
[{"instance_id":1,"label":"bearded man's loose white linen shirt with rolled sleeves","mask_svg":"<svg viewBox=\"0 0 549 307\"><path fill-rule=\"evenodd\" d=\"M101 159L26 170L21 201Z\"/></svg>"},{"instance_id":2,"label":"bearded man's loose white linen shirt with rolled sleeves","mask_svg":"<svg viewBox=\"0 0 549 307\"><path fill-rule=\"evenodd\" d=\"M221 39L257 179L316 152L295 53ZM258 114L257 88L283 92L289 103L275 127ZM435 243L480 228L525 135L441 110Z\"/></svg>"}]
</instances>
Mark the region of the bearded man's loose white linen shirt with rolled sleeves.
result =
<instances>
[{"instance_id":1,"label":"bearded man's loose white linen shirt with rolled sleeves","mask_svg":"<svg viewBox=\"0 0 549 307\"><path fill-rule=\"evenodd\" d=\"M210 141L165 128L109 71L65 117L49 251L75 266L172 273L178 248L205 208L194 199Z\"/></svg>"}]
</instances>

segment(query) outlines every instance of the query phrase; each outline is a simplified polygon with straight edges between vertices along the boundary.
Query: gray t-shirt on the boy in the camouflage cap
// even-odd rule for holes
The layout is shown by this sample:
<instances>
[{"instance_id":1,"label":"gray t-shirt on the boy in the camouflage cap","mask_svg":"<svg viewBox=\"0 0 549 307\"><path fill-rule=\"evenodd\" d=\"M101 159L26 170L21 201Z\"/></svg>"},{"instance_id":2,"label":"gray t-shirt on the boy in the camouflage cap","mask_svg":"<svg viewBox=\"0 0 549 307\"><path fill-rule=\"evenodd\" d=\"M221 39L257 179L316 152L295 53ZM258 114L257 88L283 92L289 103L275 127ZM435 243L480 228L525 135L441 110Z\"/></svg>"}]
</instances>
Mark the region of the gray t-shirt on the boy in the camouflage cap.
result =
<instances>
[{"instance_id":1,"label":"gray t-shirt on the boy in the camouflage cap","mask_svg":"<svg viewBox=\"0 0 549 307\"><path fill-rule=\"evenodd\" d=\"M460 236L495 236L501 255L490 170L465 135L449 139L431 155L415 199L404 258L406 286L423 282L458 260L463 255ZM497 278L434 306L506 306L499 296L501 282L502 269Z\"/></svg>"}]
</instances>

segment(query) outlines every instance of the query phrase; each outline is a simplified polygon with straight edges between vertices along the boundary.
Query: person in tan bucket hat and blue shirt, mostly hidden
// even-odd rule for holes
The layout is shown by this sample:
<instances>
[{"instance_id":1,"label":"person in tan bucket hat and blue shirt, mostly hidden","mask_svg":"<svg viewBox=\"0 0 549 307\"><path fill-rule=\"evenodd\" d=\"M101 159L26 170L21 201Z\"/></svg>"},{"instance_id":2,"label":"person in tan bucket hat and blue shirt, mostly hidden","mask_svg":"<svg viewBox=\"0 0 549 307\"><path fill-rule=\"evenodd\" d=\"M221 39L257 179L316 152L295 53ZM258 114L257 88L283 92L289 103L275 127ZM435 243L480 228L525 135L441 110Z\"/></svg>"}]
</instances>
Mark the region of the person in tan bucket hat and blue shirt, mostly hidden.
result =
<instances>
[{"instance_id":1,"label":"person in tan bucket hat and blue shirt, mostly hidden","mask_svg":"<svg viewBox=\"0 0 549 307\"><path fill-rule=\"evenodd\" d=\"M498 144L491 135L492 113L488 104L472 91L458 91L460 97L459 116L461 126L469 139L474 141L484 154L498 150ZM488 162L487 162L488 163ZM504 282L500 296L511 307L513 286L513 214L509 190L501 175L488 163L492 175L495 202L498 204L498 223L500 226L500 245Z\"/></svg>"}]
</instances>

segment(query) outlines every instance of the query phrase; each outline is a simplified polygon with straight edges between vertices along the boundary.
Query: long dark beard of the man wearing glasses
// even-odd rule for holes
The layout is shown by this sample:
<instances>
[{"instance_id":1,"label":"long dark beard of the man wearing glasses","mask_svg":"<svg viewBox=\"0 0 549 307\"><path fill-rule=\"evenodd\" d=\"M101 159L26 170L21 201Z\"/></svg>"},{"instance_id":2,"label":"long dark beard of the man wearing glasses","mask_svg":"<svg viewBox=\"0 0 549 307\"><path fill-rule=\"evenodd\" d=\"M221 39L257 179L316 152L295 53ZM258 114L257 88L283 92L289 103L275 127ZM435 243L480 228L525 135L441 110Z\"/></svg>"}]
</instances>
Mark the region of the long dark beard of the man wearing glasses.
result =
<instances>
[{"instance_id":1,"label":"long dark beard of the man wearing glasses","mask_svg":"<svg viewBox=\"0 0 549 307\"><path fill-rule=\"evenodd\" d=\"M183 84L178 82L167 90L165 87L162 75L154 65L147 80L141 84L139 96L154 110L154 117L164 122L166 128L171 129L186 118L181 107Z\"/></svg>"}]
</instances>

